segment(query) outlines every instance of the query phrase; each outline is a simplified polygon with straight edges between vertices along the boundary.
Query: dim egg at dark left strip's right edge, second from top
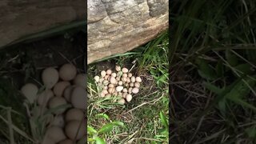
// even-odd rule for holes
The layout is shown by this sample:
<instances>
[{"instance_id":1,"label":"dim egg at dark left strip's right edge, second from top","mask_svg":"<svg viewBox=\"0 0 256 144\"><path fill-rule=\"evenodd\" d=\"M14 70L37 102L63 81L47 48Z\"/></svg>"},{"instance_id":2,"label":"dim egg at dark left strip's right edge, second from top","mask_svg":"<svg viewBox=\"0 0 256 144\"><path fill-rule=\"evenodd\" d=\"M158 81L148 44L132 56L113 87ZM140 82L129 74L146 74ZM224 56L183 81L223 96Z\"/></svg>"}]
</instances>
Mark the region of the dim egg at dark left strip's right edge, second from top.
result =
<instances>
[{"instance_id":1,"label":"dim egg at dark left strip's right edge, second from top","mask_svg":"<svg viewBox=\"0 0 256 144\"><path fill-rule=\"evenodd\" d=\"M71 104L78 109L86 108L86 89L76 86L71 94Z\"/></svg>"}]
</instances>

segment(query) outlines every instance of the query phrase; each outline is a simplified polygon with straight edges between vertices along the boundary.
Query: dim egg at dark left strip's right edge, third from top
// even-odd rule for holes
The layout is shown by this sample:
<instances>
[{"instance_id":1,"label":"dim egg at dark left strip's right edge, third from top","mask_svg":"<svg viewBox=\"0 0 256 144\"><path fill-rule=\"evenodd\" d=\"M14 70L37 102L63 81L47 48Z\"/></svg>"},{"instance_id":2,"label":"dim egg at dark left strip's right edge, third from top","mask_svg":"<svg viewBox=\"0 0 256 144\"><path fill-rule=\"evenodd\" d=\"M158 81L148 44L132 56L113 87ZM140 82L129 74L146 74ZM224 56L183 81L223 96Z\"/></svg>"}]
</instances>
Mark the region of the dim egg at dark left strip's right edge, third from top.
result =
<instances>
[{"instance_id":1,"label":"dim egg at dark left strip's right edge, third from top","mask_svg":"<svg viewBox=\"0 0 256 144\"><path fill-rule=\"evenodd\" d=\"M67 110L65 115L66 122L70 122L73 120L81 121L85 118L85 114L80 109L72 108L70 110Z\"/></svg>"}]
</instances>

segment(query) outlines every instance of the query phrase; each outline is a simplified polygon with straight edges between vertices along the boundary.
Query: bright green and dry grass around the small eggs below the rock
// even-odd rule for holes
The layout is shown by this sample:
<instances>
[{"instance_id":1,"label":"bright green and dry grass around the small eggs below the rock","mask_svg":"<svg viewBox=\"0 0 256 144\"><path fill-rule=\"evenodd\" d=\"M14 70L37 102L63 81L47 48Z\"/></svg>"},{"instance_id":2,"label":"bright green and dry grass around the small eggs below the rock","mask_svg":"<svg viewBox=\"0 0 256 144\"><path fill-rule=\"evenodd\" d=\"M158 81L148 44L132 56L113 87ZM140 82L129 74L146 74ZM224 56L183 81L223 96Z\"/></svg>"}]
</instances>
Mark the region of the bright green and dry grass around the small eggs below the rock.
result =
<instances>
[{"instance_id":1,"label":"bright green and dry grass around the small eggs below the rock","mask_svg":"<svg viewBox=\"0 0 256 144\"><path fill-rule=\"evenodd\" d=\"M106 143L168 143L168 50L166 31L145 46L88 66L87 91L90 96L87 126L90 127L87 129L95 130L90 132L90 140L102 138L102 142ZM125 106L98 96L93 80L100 70L106 70L106 67L113 69L115 65L126 66L142 77L139 94ZM107 115L107 118L98 117L98 114ZM120 122L120 125L114 126L111 122ZM106 133L96 132L102 127L109 130Z\"/></svg>"}]
</instances>

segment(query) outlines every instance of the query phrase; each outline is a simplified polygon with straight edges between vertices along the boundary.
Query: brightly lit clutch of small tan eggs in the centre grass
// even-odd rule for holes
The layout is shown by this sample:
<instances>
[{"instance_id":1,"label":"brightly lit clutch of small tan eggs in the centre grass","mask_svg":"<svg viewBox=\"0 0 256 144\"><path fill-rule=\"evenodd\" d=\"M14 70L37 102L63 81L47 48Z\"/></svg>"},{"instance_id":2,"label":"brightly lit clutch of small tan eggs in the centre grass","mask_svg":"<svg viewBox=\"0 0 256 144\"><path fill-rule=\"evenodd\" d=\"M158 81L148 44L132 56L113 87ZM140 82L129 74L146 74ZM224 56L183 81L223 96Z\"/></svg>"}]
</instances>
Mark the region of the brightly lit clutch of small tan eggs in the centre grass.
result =
<instances>
[{"instance_id":1,"label":"brightly lit clutch of small tan eggs in the centre grass","mask_svg":"<svg viewBox=\"0 0 256 144\"><path fill-rule=\"evenodd\" d=\"M115 66L115 70L102 70L94 80L102 98L115 97L123 105L132 100L133 94L138 94L142 78L135 77L126 67Z\"/></svg>"}]
</instances>

